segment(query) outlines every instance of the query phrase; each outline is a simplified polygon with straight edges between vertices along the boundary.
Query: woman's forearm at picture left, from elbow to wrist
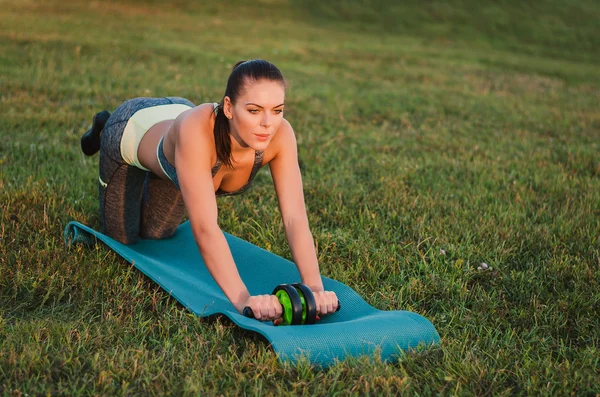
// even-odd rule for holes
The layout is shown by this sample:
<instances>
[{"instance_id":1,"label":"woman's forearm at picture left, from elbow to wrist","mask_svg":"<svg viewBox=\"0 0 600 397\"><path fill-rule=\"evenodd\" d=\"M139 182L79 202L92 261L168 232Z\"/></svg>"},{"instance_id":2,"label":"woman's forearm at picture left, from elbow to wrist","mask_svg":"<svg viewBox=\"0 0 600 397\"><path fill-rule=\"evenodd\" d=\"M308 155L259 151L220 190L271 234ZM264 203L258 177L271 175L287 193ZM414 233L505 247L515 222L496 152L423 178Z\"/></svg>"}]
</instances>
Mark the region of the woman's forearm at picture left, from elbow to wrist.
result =
<instances>
[{"instance_id":1,"label":"woman's forearm at picture left, from elbow to wrist","mask_svg":"<svg viewBox=\"0 0 600 397\"><path fill-rule=\"evenodd\" d=\"M217 228L194 235L208 271L227 299L241 312L250 294L240 277L223 232Z\"/></svg>"}]
</instances>

